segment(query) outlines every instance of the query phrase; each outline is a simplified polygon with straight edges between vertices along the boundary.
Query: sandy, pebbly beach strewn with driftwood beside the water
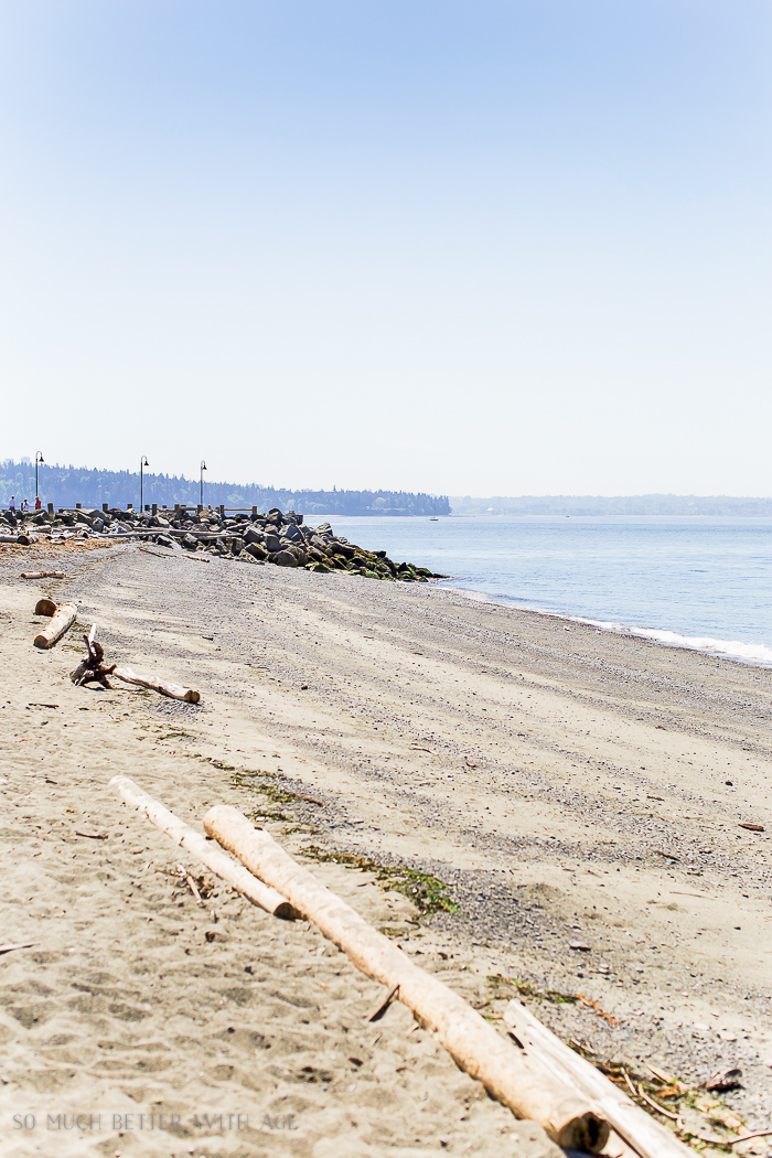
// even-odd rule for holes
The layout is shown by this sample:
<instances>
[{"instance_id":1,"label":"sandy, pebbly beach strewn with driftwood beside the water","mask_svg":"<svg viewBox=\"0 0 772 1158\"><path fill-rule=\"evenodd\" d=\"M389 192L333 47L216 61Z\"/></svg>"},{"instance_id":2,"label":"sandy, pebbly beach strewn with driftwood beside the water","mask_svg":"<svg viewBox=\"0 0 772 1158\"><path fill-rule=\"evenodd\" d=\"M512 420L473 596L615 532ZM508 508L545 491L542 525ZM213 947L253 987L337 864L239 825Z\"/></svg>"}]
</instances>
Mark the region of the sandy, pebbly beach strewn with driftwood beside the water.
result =
<instances>
[{"instance_id":1,"label":"sandy, pebbly beach strewn with driftwood beside the water","mask_svg":"<svg viewBox=\"0 0 772 1158\"><path fill-rule=\"evenodd\" d=\"M219 886L197 906L174 873L200 867L117 772L197 826L227 801L294 852L433 874L458 913L412 923L375 870L313 863L490 1017L513 979L581 992L595 1006L529 1002L633 1070L738 1065L726 1102L770 1124L772 672L440 587L154 551L58 555L69 578L37 584L0 556L0 940L35 943L0 957L5 1153L557 1153L402 1006L366 1024L380 987L314 928ZM78 636L31 646L41 594L201 704L73 688Z\"/></svg>"}]
</instances>

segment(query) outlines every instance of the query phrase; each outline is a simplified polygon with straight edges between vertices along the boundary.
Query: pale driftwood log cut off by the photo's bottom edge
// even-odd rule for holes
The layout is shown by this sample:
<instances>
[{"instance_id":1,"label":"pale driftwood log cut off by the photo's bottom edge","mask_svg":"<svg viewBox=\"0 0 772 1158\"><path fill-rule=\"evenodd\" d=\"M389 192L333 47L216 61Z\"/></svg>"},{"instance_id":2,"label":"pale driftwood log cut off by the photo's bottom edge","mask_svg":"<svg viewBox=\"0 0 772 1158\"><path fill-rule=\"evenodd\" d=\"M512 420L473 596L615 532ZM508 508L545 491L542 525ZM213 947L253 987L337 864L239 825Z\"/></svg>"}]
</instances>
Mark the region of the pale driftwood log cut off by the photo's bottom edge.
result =
<instances>
[{"instance_id":1,"label":"pale driftwood log cut off by the photo's bottom edge","mask_svg":"<svg viewBox=\"0 0 772 1158\"><path fill-rule=\"evenodd\" d=\"M689 1158L693 1151L679 1142L671 1130L637 1106L605 1075L584 1061L573 1049L535 1018L520 1002L509 1002L503 1023L521 1042L525 1054L536 1053L545 1060L557 1078L580 1090L602 1111L615 1131L641 1158Z\"/></svg>"}]
</instances>

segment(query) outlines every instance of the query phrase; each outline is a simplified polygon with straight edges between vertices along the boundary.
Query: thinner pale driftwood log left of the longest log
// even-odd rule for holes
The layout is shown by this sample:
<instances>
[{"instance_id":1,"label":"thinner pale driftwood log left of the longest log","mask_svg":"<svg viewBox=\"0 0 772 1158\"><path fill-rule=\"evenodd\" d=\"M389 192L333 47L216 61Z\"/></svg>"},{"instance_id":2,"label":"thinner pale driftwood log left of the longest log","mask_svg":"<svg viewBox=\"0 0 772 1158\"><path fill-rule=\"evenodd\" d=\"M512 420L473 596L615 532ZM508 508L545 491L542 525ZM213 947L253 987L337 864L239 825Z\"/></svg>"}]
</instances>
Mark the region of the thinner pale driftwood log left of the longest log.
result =
<instances>
[{"instance_id":1,"label":"thinner pale driftwood log left of the longest log","mask_svg":"<svg viewBox=\"0 0 772 1158\"><path fill-rule=\"evenodd\" d=\"M116 789L126 804L131 804L139 812L144 812L150 823L166 833L170 840L179 848L186 849L194 857L205 864L207 868L221 877L229 885L233 885L242 896L245 896L253 904L258 904L266 913L274 917L284 917L293 921L299 914L295 908L275 888L256 880L251 872L243 865L231 860L229 856L218 845L211 844L205 836L197 833L178 816L175 816L159 800L155 800L147 792L144 792L138 784L134 784L127 776L113 776L110 786Z\"/></svg>"}]
</instances>

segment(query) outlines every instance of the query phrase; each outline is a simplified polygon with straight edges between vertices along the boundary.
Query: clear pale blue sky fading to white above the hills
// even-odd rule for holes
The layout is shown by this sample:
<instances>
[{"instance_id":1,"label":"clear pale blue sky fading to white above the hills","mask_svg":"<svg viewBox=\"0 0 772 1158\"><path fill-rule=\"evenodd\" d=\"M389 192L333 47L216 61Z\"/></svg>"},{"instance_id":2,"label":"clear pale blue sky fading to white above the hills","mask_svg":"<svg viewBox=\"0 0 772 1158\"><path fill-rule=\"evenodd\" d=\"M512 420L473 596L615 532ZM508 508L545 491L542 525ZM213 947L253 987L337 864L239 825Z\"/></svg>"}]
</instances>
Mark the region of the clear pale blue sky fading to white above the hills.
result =
<instances>
[{"instance_id":1,"label":"clear pale blue sky fading to white above the hills","mask_svg":"<svg viewBox=\"0 0 772 1158\"><path fill-rule=\"evenodd\" d=\"M772 494L769 0L0 0L0 457Z\"/></svg>"}]
</instances>

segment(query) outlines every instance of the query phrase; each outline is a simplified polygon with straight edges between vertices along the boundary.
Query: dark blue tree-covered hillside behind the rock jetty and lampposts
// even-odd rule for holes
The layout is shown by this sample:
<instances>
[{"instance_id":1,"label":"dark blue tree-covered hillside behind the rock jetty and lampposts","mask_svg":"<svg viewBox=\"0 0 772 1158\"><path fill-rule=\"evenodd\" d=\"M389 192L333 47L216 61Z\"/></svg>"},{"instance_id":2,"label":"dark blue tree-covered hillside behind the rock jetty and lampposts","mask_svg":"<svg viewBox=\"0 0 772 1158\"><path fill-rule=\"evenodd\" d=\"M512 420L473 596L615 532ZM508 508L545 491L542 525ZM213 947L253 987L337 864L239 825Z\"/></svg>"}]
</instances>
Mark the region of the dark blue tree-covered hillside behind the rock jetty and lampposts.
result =
<instances>
[{"instance_id":1,"label":"dark blue tree-covered hillside behind the rock jetty and lampposts","mask_svg":"<svg viewBox=\"0 0 772 1158\"><path fill-rule=\"evenodd\" d=\"M139 474L128 470L89 470L86 467L38 467L43 503L56 507L139 506ZM16 506L35 503L35 463L7 459L0 467L0 506L8 506L12 494ZM174 506L193 505L199 499L199 481L176 475L145 475L145 503ZM251 484L208 482L204 476L204 501L212 506L251 507L269 511L297 511L299 514L449 514L447 496L412 494L405 491L295 491Z\"/></svg>"}]
</instances>

